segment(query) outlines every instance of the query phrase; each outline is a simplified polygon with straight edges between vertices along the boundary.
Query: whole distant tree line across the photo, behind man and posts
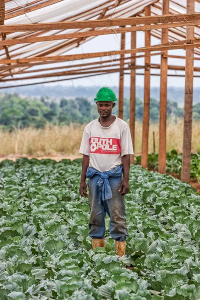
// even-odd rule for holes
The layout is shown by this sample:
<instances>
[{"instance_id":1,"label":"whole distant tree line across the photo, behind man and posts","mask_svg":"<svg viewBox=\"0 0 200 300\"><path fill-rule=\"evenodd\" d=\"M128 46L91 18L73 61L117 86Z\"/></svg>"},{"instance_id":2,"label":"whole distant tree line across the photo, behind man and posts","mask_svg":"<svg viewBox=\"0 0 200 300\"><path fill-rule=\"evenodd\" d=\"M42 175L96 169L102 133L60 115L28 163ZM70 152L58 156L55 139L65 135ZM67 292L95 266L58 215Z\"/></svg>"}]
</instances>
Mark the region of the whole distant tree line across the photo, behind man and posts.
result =
<instances>
[{"instance_id":1,"label":"whole distant tree line across the photo, behind man and posts","mask_svg":"<svg viewBox=\"0 0 200 300\"><path fill-rule=\"evenodd\" d=\"M117 102L113 113L117 114ZM142 121L143 102L136 99L136 119ZM60 102L50 101L48 98L38 99L22 98L18 94L0 94L0 128L12 130L14 127L36 128L43 127L47 122L52 124L88 123L96 118L95 103L86 98L75 99L61 98ZM183 117L183 108L177 106L177 102L167 102L167 117ZM124 119L129 118L129 99L124 99ZM200 103L193 105L193 118L200 119ZM159 102L150 99L150 121L159 119Z\"/></svg>"}]
</instances>

